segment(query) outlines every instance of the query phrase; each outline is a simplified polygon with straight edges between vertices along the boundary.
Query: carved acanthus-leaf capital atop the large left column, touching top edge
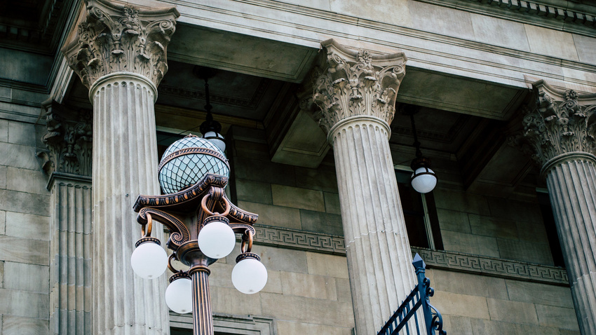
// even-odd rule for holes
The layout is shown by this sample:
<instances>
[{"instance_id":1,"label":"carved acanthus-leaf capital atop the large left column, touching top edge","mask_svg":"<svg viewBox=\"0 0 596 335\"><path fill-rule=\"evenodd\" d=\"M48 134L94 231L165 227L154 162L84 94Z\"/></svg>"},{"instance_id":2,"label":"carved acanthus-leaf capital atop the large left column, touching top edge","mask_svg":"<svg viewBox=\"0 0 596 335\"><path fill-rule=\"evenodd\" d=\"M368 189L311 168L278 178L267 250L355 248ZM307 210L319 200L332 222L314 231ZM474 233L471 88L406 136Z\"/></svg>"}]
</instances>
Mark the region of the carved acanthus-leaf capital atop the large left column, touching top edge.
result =
<instances>
[{"instance_id":1,"label":"carved acanthus-leaf capital atop the large left column, touching top edge","mask_svg":"<svg viewBox=\"0 0 596 335\"><path fill-rule=\"evenodd\" d=\"M178 16L176 8L86 0L86 14L62 53L87 88L117 71L140 74L157 86L168 71L166 48Z\"/></svg>"}]
</instances>

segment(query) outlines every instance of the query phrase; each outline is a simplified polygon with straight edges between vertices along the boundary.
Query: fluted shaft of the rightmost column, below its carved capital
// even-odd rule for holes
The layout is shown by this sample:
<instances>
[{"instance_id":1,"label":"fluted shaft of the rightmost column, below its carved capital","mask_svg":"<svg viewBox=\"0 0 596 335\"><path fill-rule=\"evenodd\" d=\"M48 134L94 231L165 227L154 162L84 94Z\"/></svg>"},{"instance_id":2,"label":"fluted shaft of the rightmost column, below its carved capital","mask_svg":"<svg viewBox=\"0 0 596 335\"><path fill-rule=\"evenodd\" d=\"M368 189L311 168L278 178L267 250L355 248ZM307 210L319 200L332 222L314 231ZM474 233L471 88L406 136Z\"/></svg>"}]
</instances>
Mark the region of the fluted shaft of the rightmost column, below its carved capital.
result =
<instances>
[{"instance_id":1,"label":"fluted shaft of the rightmost column, below its carved capital","mask_svg":"<svg viewBox=\"0 0 596 335\"><path fill-rule=\"evenodd\" d=\"M596 156L568 153L546 183L581 334L596 329Z\"/></svg>"}]
</instances>

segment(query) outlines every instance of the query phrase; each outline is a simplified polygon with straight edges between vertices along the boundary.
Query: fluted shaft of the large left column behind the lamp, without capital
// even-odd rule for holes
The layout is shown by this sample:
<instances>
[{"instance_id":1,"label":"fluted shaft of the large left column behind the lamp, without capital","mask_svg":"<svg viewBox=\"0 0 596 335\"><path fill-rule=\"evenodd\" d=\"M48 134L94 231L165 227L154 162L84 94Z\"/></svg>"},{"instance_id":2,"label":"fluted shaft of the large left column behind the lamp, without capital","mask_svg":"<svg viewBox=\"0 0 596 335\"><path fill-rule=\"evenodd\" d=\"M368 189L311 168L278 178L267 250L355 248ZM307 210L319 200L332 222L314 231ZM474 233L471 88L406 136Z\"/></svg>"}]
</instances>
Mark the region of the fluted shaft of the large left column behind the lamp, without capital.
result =
<instances>
[{"instance_id":1,"label":"fluted shaft of the large left column behind the lamp, without capital","mask_svg":"<svg viewBox=\"0 0 596 335\"><path fill-rule=\"evenodd\" d=\"M168 334L165 278L133 273L140 238L133 203L158 194L156 87L130 72L108 74L93 102L93 334ZM163 240L161 225L154 237Z\"/></svg>"}]
</instances>

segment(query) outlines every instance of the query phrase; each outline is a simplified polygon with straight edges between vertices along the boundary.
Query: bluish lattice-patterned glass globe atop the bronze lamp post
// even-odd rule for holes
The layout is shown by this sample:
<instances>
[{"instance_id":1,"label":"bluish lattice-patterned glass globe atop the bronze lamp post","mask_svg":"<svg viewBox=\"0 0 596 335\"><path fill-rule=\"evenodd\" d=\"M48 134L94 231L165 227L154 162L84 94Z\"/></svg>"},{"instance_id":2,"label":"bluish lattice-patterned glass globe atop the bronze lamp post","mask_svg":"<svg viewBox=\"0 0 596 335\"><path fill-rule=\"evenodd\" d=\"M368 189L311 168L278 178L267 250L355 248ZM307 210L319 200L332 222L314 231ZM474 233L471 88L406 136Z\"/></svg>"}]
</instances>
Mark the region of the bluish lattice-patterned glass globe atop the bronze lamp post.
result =
<instances>
[{"instance_id":1,"label":"bluish lattice-patterned glass globe atop the bronze lamp post","mask_svg":"<svg viewBox=\"0 0 596 335\"><path fill-rule=\"evenodd\" d=\"M163 153L161 160L163 162L172 153L189 148L206 149L215 155L182 151L179 156L168 160L158 172L159 184L164 193L176 193L187 189L201 181L208 173L229 177L230 169L224 160L224 152L208 139L198 136L189 135L172 143Z\"/></svg>"}]
</instances>

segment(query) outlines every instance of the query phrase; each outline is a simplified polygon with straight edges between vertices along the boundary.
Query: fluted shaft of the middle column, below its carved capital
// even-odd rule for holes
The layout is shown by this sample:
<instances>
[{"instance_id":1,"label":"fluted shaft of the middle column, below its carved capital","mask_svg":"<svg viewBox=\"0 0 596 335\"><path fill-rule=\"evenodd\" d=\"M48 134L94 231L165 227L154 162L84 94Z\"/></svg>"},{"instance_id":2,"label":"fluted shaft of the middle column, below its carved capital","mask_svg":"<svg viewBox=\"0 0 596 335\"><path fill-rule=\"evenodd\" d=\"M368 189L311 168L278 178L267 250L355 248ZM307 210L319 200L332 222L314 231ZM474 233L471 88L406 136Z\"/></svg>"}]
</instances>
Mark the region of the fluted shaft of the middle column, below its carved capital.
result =
<instances>
[{"instance_id":1,"label":"fluted shaft of the middle column, below its carved capital","mask_svg":"<svg viewBox=\"0 0 596 335\"><path fill-rule=\"evenodd\" d=\"M330 132L358 334L376 334L416 286L389 128L371 116Z\"/></svg>"}]
</instances>

